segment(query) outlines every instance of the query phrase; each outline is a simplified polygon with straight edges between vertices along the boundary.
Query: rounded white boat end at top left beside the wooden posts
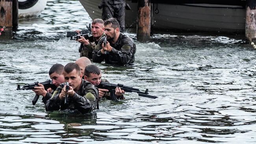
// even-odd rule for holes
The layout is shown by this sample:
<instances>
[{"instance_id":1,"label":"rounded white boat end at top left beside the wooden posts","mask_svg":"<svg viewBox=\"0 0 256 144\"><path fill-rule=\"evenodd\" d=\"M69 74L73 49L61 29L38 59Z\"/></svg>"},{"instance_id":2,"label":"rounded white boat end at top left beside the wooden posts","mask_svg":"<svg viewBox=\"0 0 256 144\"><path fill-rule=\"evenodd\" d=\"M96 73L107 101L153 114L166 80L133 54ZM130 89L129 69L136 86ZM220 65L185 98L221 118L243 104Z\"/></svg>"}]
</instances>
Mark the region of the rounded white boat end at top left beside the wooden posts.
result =
<instances>
[{"instance_id":1,"label":"rounded white boat end at top left beside the wooden posts","mask_svg":"<svg viewBox=\"0 0 256 144\"><path fill-rule=\"evenodd\" d=\"M19 19L35 18L45 9L47 0L18 0Z\"/></svg>"}]
</instances>

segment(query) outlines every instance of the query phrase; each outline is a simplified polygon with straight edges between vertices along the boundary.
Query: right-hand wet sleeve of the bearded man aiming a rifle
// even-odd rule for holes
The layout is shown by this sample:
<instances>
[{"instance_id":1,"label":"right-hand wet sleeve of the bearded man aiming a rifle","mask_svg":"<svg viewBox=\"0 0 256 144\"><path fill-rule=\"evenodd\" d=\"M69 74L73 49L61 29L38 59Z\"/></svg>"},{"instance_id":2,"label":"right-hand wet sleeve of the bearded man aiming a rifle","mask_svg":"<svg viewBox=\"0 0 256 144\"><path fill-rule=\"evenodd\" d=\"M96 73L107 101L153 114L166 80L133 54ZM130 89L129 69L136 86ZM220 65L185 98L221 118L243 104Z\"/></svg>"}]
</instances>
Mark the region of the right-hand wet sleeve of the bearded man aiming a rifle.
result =
<instances>
[{"instance_id":1,"label":"right-hand wet sleeve of the bearded man aiming a rifle","mask_svg":"<svg viewBox=\"0 0 256 144\"><path fill-rule=\"evenodd\" d=\"M130 62L133 52L133 41L132 39L126 39L121 46L121 50L112 48L112 51L109 53L119 60L123 65L126 65Z\"/></svg>"}]
</instances>

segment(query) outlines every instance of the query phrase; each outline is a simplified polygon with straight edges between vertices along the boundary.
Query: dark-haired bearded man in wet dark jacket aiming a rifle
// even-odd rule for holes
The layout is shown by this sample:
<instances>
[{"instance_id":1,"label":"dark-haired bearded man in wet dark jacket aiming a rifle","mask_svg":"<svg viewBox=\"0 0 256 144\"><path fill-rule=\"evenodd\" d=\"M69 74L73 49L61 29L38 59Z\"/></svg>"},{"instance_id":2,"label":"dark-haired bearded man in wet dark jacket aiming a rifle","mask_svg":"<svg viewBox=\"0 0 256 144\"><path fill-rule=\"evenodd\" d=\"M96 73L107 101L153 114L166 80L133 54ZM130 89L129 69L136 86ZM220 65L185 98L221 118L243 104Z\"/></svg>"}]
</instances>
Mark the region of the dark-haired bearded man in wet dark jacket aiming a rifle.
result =
<instances>
[{"instance_id":1,"label":"dark-haired bearded man in wet dark jacket aiming a rifle","mask_svg":"<svg viewBox=\"0 0 256 144\"><path fill-rule=\"evenodd\" d=\"M130 37L120 32L117 19L106 20L104 28L106 37L102 37L98 42L93 52L93 62L101 63L105 60L107 64L111 65L133 65L136 45ZM105 39L108 40L106 43Z\"/></svg>"}]
</instances>

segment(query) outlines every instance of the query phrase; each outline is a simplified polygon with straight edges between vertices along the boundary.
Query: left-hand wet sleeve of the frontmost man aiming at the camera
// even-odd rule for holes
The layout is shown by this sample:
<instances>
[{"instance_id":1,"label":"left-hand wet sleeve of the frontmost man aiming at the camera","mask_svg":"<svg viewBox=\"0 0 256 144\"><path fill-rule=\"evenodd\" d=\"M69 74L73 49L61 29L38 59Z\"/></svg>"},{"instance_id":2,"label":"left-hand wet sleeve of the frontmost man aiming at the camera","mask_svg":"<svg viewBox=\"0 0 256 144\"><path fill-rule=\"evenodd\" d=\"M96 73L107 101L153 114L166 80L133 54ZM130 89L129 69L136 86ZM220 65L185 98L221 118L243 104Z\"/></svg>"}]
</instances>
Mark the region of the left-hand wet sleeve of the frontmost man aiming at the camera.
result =
<instances>
[{"instance_id":1,"label":"left-hand wet sleeve of the frontmost man aiming at the camera","mask_svg":"<svg viewBox=\"0 0 256 144\"><path fill-rule=\"evenodd\" d=\"M46 111L58 111L61 105L61 100L59 99L59 94L61 93L62 87L59 86L52 94L52 97L46 101L45 110Z\"/></svg>"}]
</instances>

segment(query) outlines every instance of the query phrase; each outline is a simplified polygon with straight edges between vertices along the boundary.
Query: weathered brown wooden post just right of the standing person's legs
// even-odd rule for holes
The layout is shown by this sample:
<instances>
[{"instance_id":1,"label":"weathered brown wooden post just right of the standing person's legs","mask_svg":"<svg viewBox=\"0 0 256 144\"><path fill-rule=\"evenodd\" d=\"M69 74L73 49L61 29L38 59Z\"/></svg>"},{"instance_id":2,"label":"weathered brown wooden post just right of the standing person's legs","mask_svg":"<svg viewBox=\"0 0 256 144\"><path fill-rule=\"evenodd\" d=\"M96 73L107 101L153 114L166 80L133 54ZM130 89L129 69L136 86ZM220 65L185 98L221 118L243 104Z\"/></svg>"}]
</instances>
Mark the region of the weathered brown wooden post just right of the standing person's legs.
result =
<instances>
[{"instance_id":1,"label":"weathered brown wooden post just right of the standing person's legs","mask_svg":"<svg viewBox=\"0 0 256 144\"><path fill-rule=\"evenodd\" d=\"M137 40L147 41L150 38L150 0L138 0Z\"/></svg>"}]
</instances>

